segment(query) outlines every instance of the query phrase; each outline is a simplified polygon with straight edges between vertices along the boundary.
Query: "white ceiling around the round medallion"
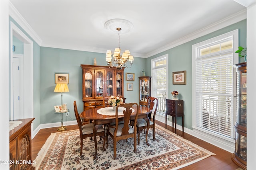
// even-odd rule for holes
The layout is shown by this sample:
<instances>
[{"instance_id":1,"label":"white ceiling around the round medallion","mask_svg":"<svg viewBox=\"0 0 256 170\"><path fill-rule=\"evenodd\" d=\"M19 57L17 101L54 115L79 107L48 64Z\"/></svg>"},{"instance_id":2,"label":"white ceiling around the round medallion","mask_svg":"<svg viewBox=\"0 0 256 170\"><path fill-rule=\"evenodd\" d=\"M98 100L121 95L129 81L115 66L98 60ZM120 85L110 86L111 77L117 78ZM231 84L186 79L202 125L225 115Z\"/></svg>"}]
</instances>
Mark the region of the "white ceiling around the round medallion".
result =
<instances>
[{"instance_id":1,"label":"white ceiling around the round medallion","mask_svg":"<svg viewBox=\"0 0 256 170\"><path fill-rule=\"evenodd\" d=\"M40 46L105 53L118 47L118 31L104 23L132 23L120 31L120 49L149 57L245 10L234 0L10 0L40 37Z\"/></svg>"}]
</instances>

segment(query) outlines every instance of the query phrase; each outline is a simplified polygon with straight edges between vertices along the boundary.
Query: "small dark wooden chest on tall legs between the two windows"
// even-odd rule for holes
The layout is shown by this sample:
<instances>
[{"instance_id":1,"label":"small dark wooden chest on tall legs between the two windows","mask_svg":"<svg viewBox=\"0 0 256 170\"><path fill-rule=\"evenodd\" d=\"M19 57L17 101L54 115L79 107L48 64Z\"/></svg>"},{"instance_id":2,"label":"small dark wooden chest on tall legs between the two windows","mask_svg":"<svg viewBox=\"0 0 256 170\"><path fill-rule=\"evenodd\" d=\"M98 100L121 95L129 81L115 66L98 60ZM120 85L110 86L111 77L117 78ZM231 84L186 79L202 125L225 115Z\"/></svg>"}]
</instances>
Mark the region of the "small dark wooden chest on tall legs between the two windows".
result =
<instances>
[{"instance_id":1,"label":"small dark wooden chest on tall legs between the two windows","mask_svg":"<svg viewBox=\"0 0 256 170\"><path fill-rule=\"evenodd\" d=\"M176 117L182 117L182 131L184 132L184 101L166 99L166 112L165 112L165 129L167 123L167 115L172 116L172 127L175 118L175 133L176 133Z\"/></svg>"}]
</instances>

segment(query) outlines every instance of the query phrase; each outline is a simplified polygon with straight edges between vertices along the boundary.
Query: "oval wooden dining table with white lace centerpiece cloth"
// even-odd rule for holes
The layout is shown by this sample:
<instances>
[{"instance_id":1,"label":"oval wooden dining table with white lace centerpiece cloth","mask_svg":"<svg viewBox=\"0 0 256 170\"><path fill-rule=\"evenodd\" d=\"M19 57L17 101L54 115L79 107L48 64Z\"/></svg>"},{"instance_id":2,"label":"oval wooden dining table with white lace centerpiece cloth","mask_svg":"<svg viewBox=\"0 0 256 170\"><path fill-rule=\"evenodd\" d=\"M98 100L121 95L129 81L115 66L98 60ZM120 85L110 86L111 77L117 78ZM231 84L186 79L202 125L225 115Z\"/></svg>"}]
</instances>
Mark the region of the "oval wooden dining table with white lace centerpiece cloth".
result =
<instances>
[{"instance_id":1,"label":"oval wooden dining table with white lace centerpiece cloth","mask_svg":"<svg viewBox=\"0 0 256 170\"><path fill-rule=\"evenodd\" d=\"M113 115L103 115L97 112L98 109L101 108L90 108L87 110L84 110L80 113L80 117L83 119L90 119L94 122L94 129L93 129L93 137L94 137L94 143L95 143L95 155L94 159L96 159L97 156L97 140L96 140L96 132L99 128L97 125L103 125L103 124L108 124L116 121L116 115L115 111L113 110ZM134 109L134 112L131 114L131 120L135 118L136 115L136 107L132 107ZM147 131L146 131L146 144L149 145L148 143L148 129L149 129L149 118L148 115L151 114L152 110L148 107L145 106L139 106L139 113L138 113L138 119L143 118L147 122ZM118 119L122 121L124 118L124 115L118 115ZM136 133L136 132L135 132Z\"/></svg>"}]
</instances>

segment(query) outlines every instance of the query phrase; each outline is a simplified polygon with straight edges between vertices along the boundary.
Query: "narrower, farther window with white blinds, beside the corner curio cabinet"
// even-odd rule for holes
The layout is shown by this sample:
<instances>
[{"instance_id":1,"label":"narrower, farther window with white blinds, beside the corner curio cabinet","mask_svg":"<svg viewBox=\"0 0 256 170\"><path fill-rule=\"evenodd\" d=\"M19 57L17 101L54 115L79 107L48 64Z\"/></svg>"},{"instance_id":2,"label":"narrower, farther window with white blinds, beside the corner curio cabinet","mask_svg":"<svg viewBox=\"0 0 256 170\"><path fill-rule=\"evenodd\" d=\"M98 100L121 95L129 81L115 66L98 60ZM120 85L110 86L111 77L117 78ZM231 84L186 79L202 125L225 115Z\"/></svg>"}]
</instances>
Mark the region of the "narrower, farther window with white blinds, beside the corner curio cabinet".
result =
<instances>
[{"instance_id":1,"label":"narrower, farther window with white blinds, beside the corner curio cabinet","mask_svg":"<svg viewBox=\"0 0 256 170\"><path fill-rule=\"evenodd\" d=\"M167 94L167 57L152 59L152 96L158 98L156 114L165 115Z\"/></svg>"}]
</instances>

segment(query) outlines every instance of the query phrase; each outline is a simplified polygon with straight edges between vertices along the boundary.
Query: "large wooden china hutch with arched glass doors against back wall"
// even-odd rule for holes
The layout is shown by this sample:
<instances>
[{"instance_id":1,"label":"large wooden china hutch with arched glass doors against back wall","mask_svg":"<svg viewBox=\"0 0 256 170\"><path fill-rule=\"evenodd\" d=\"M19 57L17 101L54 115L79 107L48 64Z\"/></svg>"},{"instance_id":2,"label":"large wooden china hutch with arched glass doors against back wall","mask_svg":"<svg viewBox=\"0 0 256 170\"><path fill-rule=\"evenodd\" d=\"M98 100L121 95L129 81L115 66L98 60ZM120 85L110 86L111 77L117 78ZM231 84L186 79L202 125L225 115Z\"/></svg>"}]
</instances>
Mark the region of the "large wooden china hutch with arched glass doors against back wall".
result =
<instances>
[{"instance_id":1,"label":"large wooden china hutch with arched glass doors against back wall","mask_svg":"<svg viewBox=\"0 0 256 170\"><path fill-rule=\"evenodd\" d=\"M92 107L103 107L106 96L124 98L124 67L121 70L108 66L81 64L82 68L82 101L84 110Z\"/></svg>"}]
</instances>

